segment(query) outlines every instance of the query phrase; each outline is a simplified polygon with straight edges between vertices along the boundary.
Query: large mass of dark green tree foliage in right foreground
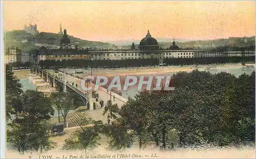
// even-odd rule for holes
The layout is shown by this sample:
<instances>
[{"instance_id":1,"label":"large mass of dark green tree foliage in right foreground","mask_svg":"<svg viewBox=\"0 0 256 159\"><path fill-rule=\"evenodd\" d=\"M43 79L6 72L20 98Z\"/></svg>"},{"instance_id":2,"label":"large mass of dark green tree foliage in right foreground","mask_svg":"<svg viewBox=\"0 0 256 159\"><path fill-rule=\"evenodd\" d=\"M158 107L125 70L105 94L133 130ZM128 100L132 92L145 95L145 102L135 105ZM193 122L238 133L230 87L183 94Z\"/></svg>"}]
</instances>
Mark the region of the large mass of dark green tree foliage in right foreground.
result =
<instances>
[{"instance_id":1,"label":"large mass of dark green tree foliage in right foreground","mask_svg":"<svg viewBox=\"0 0 256 159\"><path fill-rule=\"evenodd\" d=\"M174 91L140 92L123 105L120 119L137 133L140 148L148 135L165 147L172 129L180 145L254 141L254 74L179 72Z\"/></svg>"}]
</instances>

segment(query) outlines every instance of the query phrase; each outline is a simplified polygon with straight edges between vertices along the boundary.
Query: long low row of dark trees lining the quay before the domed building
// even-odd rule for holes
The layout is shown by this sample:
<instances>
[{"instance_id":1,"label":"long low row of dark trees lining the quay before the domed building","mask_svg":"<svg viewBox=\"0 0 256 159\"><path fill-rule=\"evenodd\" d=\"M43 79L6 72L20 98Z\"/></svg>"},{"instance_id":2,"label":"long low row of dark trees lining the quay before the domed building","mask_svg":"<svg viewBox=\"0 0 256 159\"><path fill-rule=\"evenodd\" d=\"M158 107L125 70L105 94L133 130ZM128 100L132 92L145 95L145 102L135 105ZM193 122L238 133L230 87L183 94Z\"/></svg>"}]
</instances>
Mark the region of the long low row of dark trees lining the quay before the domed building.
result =
<instances>
[{"instance_id":1,"label":"long low row of dark trees lining the quay before the domed building","mask_svg":"<svg viewBox=\"0 0 256 159\"><path fill-rule=\"evenodd\" d=\"M255 62L255 57L203 57L203 58L170 58L164 59L166 65L197 65ZM150 67L159 65L159 59L125 59L125 60L44 60L42 68L75 67L75 68L125 68Z\"/></svg>"}]
</instances>

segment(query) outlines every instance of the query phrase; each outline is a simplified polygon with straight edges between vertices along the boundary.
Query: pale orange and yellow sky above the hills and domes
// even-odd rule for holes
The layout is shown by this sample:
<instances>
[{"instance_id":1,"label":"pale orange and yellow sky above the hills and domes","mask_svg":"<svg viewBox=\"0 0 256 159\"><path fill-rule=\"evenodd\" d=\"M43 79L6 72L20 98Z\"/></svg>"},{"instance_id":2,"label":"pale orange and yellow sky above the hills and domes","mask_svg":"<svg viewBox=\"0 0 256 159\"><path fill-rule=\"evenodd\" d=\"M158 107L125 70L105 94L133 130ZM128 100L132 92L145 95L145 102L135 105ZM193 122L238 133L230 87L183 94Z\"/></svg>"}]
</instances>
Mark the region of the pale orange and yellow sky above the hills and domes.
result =
<instances>
[{"instance_id":1,"label":"pale orange and yellow sky above the hills and domes","mask_svg":"<svg viewBox=\"0 0 256 159\"><path fill-rule=\"evenodd\" d=\"M4 30L37 24L93 41L255 36L254 1L4 1Z\"/></svg>"}]
</instances>

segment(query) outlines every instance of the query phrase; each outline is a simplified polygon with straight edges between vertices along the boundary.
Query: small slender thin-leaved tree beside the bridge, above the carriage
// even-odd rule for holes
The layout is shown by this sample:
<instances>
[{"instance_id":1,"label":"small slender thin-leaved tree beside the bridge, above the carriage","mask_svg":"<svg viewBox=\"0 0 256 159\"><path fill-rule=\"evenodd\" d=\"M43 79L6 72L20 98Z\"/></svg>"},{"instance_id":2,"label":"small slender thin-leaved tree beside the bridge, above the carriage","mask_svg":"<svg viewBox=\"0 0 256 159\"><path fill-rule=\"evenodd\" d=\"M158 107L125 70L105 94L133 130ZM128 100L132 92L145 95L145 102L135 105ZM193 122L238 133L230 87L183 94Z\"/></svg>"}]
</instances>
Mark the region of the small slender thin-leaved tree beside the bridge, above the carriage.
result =
<instances>
[{"instance_id":1,"label":"small slender thin-leaved tree beside the bridge, above the carriage","mask_svg":"<svg viewBox=\"0 0 256 159\"><path fill-rule=\"evenodd\" d=\"M57 92L52 94L52 100L56 105L56 108L60 110L63 117L63 122L66 127L66 118L71 109L74 108L73 96L69 92Z\"/></svg>"}]
</instances>

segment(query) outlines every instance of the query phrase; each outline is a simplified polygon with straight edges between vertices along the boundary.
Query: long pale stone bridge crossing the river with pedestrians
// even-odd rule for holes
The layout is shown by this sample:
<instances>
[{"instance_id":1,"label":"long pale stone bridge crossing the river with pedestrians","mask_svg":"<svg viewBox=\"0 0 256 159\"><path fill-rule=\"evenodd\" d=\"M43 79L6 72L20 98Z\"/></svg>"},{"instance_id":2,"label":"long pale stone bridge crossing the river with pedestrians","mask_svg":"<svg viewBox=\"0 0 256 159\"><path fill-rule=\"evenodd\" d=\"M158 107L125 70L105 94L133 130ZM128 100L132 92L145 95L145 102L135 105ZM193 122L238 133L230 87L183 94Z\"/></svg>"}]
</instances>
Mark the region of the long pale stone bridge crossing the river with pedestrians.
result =
<instances>
[{"instance_id":1,"label":"long pale stone bridge crossing the river with pedestrians","mask_svg":"<svg viewBox=\"0 0 256 159\"><path fill-rule=\"evenodd\" d=\"M89 87L92 87L92 90L86 91L81 87L81 78L73 77L64 72L54 72L53 70L42 70L42 69L31 69L31 73L39 75L42 79L41 82L50 83L51 87L56 87L59 91L63 92L75 92L79 94L82 99L84 105L87 105L87 110L94 110L93 102L95 102L95 98L92 98L92 90L94 90L95 85L93 83L86 83ZM40 85L40 81L37 82ZM41 84L44 86L44 84ZM104 105L110 99L112 99L112 103L117 103L118 107L121 108L124 103L127 102L127 99L118 95L113 91L107 91L106 88L99 86L98 91L99 100L104 101ZM113 97L115 96L115 100ZM98 101L99 101L98 100Z\"/></svg>"}]
</instances>

